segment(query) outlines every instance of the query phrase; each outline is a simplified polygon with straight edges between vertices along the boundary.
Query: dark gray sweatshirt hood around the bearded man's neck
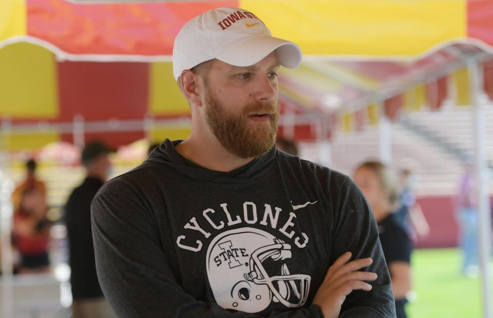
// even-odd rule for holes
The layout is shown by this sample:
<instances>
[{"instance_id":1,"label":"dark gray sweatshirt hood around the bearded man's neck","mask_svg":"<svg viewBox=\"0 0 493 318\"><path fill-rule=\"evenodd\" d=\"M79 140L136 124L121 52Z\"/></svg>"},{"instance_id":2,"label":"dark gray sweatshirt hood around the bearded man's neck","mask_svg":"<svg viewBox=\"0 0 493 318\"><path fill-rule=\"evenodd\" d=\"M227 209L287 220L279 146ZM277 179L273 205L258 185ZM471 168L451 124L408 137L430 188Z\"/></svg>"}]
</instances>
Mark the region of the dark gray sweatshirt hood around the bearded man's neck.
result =
<instances>
[{"instance_id":1,"label":"dark gray sweatshirt hood around the bearded man's neck","mask_svg":"<svg viewBox=\"0 0 493 318\"><path fill-rule=\"evenodd\" d=\"M252 181L267 173L269 169L264 168L273 161L277 154L277 149L274 146L252 162L233 171L222 172L200 167L180 155L176 151L175 146L181 142L182 140L170 141L169 139L166 139L159 147L150 153L144 164L165 164L180 173L187 175L193 180L218 183L241 183Z\"/></svg>"}]
</instances>

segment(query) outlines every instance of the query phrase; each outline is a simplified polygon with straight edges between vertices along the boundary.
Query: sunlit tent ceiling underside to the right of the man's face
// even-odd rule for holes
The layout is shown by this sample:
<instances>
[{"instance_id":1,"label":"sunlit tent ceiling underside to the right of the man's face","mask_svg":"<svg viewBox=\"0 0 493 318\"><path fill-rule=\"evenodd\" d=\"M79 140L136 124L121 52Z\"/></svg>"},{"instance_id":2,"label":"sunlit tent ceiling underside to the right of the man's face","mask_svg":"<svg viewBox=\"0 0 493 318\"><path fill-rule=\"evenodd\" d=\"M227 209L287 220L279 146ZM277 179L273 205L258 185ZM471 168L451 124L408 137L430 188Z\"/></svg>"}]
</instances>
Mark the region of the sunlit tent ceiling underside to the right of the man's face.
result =
<instances>
[{"instance_id":1,"label":"sunlit tent ceiling underside to the right of the man's face","mask_svg":"<svg viewBox=\"0 0 493 318\"><path fill-rule=\"evenodd\" d=\"M414 86L464 67L467 59L493 58L474 45L454 44L415 61L305 61L296 70L282 70L281 88L307 107L332 112L383 101Z\"/></svg>"}]
</instances>

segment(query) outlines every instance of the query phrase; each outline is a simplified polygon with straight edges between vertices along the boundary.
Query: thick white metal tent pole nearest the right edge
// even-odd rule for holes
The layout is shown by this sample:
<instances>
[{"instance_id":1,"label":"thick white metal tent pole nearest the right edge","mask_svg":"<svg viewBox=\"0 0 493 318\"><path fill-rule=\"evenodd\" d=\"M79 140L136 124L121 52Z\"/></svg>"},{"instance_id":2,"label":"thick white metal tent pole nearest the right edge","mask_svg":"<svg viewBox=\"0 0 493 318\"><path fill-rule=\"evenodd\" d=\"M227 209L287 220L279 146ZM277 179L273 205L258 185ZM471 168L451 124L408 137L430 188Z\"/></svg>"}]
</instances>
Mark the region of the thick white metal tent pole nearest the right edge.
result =
<instances>
[{"instance_id":1,"label":"thick white metal tent pole nearest the right edge","mask_svg":"<svg viewBox=\"0 0 493 318\"><path fill-rule=\"evenodd\" d=\"M475 133L475 162L477 181L477 200L479 214L479 256L483 287L483 317L491 318L491 287L489 282L489 257L491 249L491 215L489 207L488 170L485 151L485 122L484 106L480 100L482 94L482 72L478 63L468 61L467 68L470 77L471 104L473 107Z\"/></svg>"}]
</instances>

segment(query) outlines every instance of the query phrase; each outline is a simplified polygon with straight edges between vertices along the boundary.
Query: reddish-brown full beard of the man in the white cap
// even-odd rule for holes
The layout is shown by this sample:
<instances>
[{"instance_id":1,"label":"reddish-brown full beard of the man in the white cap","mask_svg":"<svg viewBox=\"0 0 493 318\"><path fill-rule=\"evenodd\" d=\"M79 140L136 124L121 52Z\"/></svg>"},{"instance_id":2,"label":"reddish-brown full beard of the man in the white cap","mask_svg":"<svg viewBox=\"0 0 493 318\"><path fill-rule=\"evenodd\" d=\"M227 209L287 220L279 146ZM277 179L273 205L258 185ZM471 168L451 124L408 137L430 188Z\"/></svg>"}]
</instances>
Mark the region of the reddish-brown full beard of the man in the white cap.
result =
<instances>
[{"instance_id":1,"label":"reddish-brown full beard of the man in the white cap","mask_svg":"<svg viewBox=\"0 0 493 318\"><path fill-rule=\"evenodd\" d=\"M228 113L210 89L205 95L205 122L227 151L240 158L256 158L269 151L276 142L279 103L255 103L236 113ZM251 121L249 115L269 113L268 123Z\"/></svg>"}]
</instances>

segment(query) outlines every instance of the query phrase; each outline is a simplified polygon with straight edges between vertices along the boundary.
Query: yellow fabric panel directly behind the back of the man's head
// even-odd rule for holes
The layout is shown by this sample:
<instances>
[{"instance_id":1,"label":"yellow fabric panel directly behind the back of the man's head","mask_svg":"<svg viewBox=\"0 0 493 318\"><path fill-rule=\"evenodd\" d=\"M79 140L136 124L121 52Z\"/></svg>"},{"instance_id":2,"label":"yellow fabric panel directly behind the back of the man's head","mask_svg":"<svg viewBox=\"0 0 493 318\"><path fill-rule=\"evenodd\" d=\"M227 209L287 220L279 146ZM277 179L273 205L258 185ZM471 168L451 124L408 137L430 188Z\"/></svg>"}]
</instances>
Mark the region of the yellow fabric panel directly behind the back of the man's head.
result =
<instances>
[{"instance_id":1,"label":"yellow fabric panel directly behind the back of the man's head","mask_svg":"<svg viewBox=\"0 0 493 318\"><path fill-rule=\"evenodd\" d=\"M149 111L155 115L190 114L190 107L178 88L171 62L150 64Z\"/></svg>"}]
</instances>

